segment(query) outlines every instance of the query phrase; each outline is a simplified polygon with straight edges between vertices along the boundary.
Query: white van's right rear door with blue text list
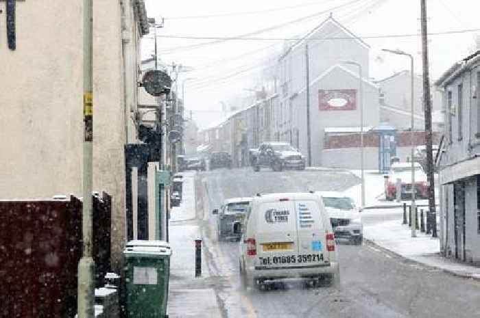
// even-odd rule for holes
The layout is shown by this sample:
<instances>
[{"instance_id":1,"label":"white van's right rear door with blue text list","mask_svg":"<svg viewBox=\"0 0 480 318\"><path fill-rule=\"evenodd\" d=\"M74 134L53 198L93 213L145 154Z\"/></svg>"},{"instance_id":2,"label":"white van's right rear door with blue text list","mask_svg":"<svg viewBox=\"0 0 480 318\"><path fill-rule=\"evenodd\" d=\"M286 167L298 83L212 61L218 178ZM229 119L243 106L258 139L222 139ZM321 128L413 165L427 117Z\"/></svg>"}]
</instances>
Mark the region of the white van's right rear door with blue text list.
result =
<instances>
[{"instance_id":1,"label":"white van's right rear door with blue text list","mask_svg":"<svg viewBox=\"0 0 480 318\"><path fill-rule=\"evenodd\" d=\"M326 249L324 213L314 200L296 200L298 260L302 265L318 265L329 261Z\"/></svg>"}]
</instances>

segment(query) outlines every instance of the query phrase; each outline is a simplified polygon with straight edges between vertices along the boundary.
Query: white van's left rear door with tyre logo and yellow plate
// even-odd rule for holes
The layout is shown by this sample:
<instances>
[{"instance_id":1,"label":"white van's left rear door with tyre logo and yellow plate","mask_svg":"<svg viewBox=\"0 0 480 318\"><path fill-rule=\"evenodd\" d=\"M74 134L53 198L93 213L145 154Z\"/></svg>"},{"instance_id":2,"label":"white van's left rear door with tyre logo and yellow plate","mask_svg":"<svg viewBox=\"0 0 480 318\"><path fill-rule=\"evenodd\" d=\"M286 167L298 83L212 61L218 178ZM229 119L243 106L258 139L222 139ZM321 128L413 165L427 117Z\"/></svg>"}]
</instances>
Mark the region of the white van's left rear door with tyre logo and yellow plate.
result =
<instances>
[{"instance_id":1,"label":"white van's left rear door with tyre logo and yellow plate","mask_svg":"<svg viewBox=\"0 0 480 318\"><path fill-rule=\"evenodd\" d=\"M298 239L293 201L263 202L256 217L256 267L276 268L296 262Z\"/></svg>"}]
</instances>

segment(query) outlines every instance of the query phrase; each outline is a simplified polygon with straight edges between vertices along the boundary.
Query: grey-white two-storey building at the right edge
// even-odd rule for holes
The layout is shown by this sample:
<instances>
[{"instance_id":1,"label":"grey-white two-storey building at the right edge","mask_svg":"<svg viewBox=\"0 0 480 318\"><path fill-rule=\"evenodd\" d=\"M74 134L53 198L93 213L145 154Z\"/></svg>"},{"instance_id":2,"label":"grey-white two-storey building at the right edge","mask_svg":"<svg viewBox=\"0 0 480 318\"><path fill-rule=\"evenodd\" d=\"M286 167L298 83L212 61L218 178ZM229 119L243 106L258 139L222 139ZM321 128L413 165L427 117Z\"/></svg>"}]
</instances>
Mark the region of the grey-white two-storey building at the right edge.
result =
<instances>
[{"instance_id":1,"label":"grey-white two-storey building at the right edge","mask_svg":"<svg viewBox=\"0 0 480 318\"><path fill-rule=\"evenodd\" d=\"M480 264L480 51L435 83L442 91L440 246L445 256Z\"/></svg>"}]
</instances>

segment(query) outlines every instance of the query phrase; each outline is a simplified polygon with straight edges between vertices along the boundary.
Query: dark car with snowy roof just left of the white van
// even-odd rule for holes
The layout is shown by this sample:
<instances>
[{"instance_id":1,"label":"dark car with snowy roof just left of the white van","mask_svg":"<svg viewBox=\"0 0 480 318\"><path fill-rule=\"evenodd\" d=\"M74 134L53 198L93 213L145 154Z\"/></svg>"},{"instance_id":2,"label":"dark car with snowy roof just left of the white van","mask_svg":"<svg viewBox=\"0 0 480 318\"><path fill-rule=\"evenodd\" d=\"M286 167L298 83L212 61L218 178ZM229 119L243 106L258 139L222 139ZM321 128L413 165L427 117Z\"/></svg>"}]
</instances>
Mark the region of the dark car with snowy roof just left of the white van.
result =
<instances>
[{"instance_id":1,"label":"dark car with snowy roof just left of the white van","mask_svg":"<svg viewBox=\"0 0 480 318\"><path fill-rule=\"evenodd\" d=\"M241 232L235 230L245 219L252 198L230 198L225 200L220 209L213 210L217 215L217 237L219 241L234 239L239 241Z\"/></svg>"}]
</instances>

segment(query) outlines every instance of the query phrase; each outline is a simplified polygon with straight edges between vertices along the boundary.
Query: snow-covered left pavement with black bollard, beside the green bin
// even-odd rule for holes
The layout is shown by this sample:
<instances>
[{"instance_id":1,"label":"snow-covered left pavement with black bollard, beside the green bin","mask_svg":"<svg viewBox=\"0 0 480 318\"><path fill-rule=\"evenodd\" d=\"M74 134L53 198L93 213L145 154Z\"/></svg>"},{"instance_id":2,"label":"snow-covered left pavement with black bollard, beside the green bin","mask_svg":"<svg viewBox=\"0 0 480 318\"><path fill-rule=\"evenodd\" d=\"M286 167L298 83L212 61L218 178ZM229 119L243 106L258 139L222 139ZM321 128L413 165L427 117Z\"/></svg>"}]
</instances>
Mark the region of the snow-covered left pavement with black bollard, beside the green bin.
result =
<instances>
[{"instance_id":1,"label":"snow-covered left pavement with black bollard, beside the green bin","mask_svg":"<svg viewBox=\"0 0 480 318\"><path fill-rule=\"evenodd\" d=\"M183 173L183 196L180 207L170 213L169 241L172 248L169 300L171 318L222 317L217 296L202 249L202 276L195 278L195 239L202 237L196 220L195 172ZM187 309L188 308L188 309Z\"/></svg>"}]
</instances>

